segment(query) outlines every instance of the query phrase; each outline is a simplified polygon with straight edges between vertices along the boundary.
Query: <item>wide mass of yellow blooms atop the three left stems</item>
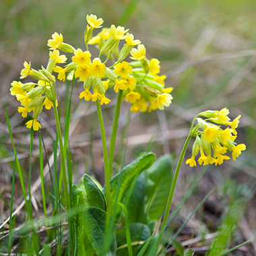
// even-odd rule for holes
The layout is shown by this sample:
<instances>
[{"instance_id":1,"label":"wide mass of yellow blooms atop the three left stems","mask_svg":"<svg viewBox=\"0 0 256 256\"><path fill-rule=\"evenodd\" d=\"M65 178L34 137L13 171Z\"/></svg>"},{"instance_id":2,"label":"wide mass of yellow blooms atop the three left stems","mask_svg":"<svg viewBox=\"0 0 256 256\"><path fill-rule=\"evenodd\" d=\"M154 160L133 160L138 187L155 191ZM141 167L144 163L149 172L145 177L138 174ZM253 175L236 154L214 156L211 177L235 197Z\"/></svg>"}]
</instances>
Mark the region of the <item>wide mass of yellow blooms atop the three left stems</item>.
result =
<instances>
[{"instance_id":1,"label":"wide mass of yellow blooms atop the three left stems","mask_svg":"<svg viewBox=\"0 0 256 256\"><path fill-rule=\"evenodd\" d=\"M106 98L105 94L113 88L115 92L123 91L122 97L131 103L132 112L151 112L157 108L162 110L164 106L170 105L172 88L164 88L166 76L158 75L160 61L146 58L146 48L141 41L134 40L128 29L115 25L102 28L101 32L92 37L94 29L102 27L103 20L93 14L87 15L86 20L86 51L75 49L63 42L63 35L55 32L52 39L48 40L47 45L51 51L46 68L35 70L31 68L31 63L24 62L20 78L24 79L29 75L36 81L26 84L16 81L11 83L11 95L21 104L18 112L22 113L24 118L32 112L33 119L26 123L26 127L38 131L41 126L37 120L43 107L51 109L53 102L57 104L56 80L64 82L66 77L72 79L74 76L83 83L84 91L79 94L79 98L86 101L100 100L100 104L108 104L110 99ZM120 40L125 40L121 50ZM92 57L88 48L92 44L99 50L96 57ZM137 49L133 48L134 46L137 46ZM60 51L73 54L71 63L66 64L67 57L61 55ZM133 59L130 63L124 61L129 54ZM110 67L105 65L108 59L113 61Z\"/></svg>"}]
</instances>

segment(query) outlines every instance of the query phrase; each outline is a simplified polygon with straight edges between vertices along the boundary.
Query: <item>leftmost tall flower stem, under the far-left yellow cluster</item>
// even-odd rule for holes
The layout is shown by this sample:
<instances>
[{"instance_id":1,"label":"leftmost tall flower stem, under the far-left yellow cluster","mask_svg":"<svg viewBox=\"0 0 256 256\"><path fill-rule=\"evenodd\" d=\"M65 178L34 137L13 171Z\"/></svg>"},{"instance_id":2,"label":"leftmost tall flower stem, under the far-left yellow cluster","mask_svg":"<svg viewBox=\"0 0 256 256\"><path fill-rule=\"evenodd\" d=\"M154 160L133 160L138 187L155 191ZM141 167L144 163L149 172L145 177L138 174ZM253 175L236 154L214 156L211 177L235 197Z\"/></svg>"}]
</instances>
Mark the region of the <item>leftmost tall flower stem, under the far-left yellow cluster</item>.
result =
<instances>
[{"instance_id":1,"label":"leftmost tall flower stem, under the far-left yellow cluster","mask_svg":"<svg viewBox=\"0 0 256 256\"><path fill-rule=\"evenodd\" d=\"M70 201L69 201L69 189L67 187L67 173L66 173L66 167L65 167L65 156L64 156L64 149L63 149L63 141L62 141L62 135L61 135L61 125L59 123L59 115L57 111L56 102L53 102L53 109L55 113L55 121L56 121L56 128L57 128L57 134L59 137L59 149L61 151L61 168L63 170L63 185L64 185L64 192L65 192L65 201L67 205L67 222L69 225L69 234L71 236L72 234L72 225L71 225L71 218L70 218ZM73 241L70 237L71 241L71 249L73 250Z\"/></svg>"}]
</instances>

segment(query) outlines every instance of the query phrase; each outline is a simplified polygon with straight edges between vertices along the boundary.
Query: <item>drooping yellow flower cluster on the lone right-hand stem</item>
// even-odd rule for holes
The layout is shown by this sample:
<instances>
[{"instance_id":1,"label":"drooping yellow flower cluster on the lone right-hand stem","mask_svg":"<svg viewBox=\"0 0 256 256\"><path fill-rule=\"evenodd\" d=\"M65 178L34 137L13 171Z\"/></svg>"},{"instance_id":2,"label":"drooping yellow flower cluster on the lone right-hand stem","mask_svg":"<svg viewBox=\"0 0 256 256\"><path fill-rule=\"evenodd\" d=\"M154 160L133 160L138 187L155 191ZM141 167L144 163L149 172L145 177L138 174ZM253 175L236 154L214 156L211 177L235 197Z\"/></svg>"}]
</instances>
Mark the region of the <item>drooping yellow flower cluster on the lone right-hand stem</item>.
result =
<instances>
[{"instance_id":1,"label":"drooping yellow flower cluster on the lone right-hand stem","mask_svg":"<svg viewBox=\"0 0 256 256\"><path fill-rule=\"evenodd\" d=\"M229 156L225 155L228 151L232 152L232 159L235 161L241 151L246 149L245 144L236 145L234 142L237 136L236 128L241 115L230 122L228 114L229 110L222 108L220 111L208 110L197 115L198 124L191 133L191 135L195 136L192 156L186 161L186 164L191 167L196 166L195 157L199 152L201 154L197 160L199 164L222 164L224 160L230 159ZM198 116L206 117L207 119L203 120Z\"/></svg>"}]
</instances>

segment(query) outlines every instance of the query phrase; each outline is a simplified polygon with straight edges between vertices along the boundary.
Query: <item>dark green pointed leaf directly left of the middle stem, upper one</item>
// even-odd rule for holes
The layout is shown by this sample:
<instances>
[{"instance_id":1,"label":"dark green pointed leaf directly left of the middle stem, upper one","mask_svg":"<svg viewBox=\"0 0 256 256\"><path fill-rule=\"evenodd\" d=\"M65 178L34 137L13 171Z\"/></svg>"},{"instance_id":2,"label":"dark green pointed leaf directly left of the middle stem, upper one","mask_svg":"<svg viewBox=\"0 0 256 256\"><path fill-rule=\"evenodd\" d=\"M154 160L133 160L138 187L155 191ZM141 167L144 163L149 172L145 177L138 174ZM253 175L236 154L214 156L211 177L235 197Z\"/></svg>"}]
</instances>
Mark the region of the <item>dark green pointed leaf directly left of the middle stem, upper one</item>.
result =
<instances>
[{"instance_id":1,"label":"dark green pointed leaf directly left of the middle stem, upper one","mask_svg":"<svg viewBox=\"0 0 256 256\"><path fill-rule=\"evenodd\" d=\"M88 206L98 207L101 210L106 211L104 195L88 174L84 174L84 187L86 189Z\"/></svg>"}]
</instances>

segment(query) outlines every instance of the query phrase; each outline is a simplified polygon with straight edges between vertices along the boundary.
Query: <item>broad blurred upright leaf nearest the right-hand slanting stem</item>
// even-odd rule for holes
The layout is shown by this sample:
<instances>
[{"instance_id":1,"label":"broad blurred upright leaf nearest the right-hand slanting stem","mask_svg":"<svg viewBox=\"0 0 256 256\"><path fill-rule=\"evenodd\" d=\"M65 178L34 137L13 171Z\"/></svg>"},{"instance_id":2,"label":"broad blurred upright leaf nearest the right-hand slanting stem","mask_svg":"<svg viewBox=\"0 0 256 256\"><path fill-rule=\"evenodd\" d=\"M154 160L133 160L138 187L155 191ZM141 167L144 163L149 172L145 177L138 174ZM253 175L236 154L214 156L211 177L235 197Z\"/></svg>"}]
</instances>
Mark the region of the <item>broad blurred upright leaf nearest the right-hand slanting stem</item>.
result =
<instances>
[{"instance_id":1,"label":"broad blurred upright leaf nearest the right-hand slanting stem","mask_svg":"<svg viewBox=\"0 0 256 256\"><path fill-rule=\"evenodd\" d=\"M172 162L170 154L166 154L158 158L156 163L147 171L149 178L154 181L154 187L148 194L147 208L150 220L158 220L166 207L172 183Z\"/></svg>"}]
</instances>

